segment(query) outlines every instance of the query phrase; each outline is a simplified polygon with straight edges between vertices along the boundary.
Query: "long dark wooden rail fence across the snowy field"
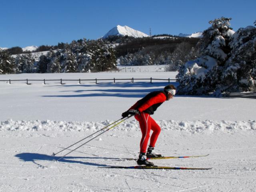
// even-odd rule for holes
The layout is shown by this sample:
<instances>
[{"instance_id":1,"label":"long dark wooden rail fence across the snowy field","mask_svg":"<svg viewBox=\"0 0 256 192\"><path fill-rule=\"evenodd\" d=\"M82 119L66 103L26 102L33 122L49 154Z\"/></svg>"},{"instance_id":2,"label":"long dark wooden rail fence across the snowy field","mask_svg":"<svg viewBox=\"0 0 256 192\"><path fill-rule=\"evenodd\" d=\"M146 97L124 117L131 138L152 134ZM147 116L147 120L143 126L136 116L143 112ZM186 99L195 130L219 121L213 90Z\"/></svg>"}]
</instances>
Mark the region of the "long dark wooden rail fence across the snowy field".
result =
<instances>
[{"instance_id":1,"label":"long dark wooden rail fence across the snowy field","mask_svg":"<svg viewBox=\"0 0 256 192\"><path fill-rule=\"evenodd\" d=\"M46 81L60 81L60 84L65 84L63 83L64 81L78 81L79 84L81 84L82 81L94 81L96 84L98 84L98 81L113 81L114 83L116 83L116 80L130 80L132 83L134 83L134 80L150 80L150 83L153 83L153 80L163 80L163 81L168 81L170 83L170 81L172 80L176 80L176 79L156 79L156 78L113 78L113 79L23 79L23 80L0 80L0 81L4 81L4 82L9 82L11 84L12 81L25 81L26 84L30 85L31 81L42 81L44 82L44 84L46 84Z\"/></svg>"}]
</instances>

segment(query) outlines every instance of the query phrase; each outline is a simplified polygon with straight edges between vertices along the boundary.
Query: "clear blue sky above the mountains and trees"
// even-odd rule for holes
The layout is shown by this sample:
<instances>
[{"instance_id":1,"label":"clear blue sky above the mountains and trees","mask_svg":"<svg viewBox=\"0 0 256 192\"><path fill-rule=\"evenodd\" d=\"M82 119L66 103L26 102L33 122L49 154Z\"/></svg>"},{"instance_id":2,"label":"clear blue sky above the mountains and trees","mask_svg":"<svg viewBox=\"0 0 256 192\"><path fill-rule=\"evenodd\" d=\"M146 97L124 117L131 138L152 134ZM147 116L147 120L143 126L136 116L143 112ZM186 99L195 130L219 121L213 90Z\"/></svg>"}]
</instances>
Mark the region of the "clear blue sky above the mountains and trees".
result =
<instances>
[{"instance_id":1,"label":"clear blue sky above the mountains and trees","mask_svg":"<svg viewBox=\"0 0 256 192\"><path fill-rule=\"evenodd\" d=\"M253 25L256 0L0 0L0 47L97 39L118 24L149 34L193 33L209 20Z\"/></svg>"}]
</instances>

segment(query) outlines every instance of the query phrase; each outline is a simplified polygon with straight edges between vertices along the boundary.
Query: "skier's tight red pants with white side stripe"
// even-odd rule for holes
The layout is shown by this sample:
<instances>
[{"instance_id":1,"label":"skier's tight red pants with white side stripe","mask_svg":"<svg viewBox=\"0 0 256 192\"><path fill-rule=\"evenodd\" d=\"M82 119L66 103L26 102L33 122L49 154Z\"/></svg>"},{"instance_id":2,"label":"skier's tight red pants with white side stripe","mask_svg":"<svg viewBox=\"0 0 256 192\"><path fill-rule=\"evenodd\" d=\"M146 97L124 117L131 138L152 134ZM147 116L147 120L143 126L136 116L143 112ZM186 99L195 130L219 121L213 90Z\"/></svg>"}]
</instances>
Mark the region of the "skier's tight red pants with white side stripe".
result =
<instances>
[{"instance_id":1,"label":"skier's tight red pants with white side stripe","mask_svg":"<svg viewBox=\"0 0 256 192\"><path fill-rule=\"evenodd\" d=\"M150 138L150 147L155 147L158 135L161 132L160 126L155 122L154 119L150 117L150 114L141 113L140 115L135 115L136 120L140 123L140 130L142 132L142 138L140 140L140 152L146 153L148 146L148 140ZM153 131L150 137L150 130Z\"/></svg>"}]
</instances>

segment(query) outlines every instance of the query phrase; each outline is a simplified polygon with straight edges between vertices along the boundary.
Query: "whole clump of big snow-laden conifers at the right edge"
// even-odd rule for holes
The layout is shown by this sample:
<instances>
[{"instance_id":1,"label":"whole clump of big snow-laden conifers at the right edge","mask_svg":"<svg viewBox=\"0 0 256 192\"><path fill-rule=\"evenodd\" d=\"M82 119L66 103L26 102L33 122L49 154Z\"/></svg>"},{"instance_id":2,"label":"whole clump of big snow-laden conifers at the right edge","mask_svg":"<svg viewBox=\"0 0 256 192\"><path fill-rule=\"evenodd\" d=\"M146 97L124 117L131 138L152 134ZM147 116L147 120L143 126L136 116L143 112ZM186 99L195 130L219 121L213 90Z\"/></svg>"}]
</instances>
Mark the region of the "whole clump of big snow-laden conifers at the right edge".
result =
<instances>
[{"instance_id":1,"label":"whole clump of big snow-laden conifers at the right edge","mask_svg":"<svg viewBox=\"0 0 256 192\"><path fill-rule=\"evenodd\" d=\"M176 76L178 94L213 94L255 88L256 30L253 26L230 27L231 18L209 23L198 42L200 57L186 62Z\"/></svg>"}]
</instances>

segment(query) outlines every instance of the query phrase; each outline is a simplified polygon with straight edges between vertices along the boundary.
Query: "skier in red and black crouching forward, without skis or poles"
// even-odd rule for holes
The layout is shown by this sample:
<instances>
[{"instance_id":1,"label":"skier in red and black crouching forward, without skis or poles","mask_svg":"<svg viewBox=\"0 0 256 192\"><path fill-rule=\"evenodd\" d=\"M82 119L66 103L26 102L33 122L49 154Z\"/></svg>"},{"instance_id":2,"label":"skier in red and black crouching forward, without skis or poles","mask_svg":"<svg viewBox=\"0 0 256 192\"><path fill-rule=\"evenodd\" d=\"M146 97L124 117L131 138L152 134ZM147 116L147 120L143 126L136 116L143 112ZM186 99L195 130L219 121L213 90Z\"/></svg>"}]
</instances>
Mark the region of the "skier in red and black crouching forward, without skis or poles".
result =
<instances>
[{"instance_id":1,"label":"skier in red and black crouching forward, without skis or poles","mask_svg":"<svg viewBox=\"0 0 256 192\"><path fill-rule=\"evenodd\" d=\"M154 114L156 109L163 102L172 99L175 93L175 86L170 84L164 87L164 90L150 92L144 98L138 100L126 112L122 113L123 118L127 117L128 115L134 115L135 119L138 120L140 124L142 138L140 140L140 154L137 160L138 165L153 166L154 164L149 162L147 158L162 156L161 154L155 154L153 152L161 128L150 115ZM153 131L151 137L150 130ZM149 138L150 144L148 150L146 151Z\"/></svg>"}]
</instances>

